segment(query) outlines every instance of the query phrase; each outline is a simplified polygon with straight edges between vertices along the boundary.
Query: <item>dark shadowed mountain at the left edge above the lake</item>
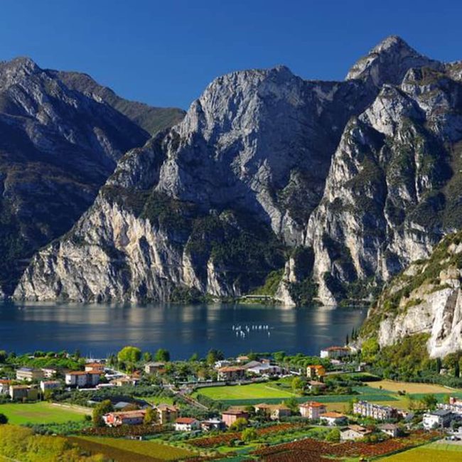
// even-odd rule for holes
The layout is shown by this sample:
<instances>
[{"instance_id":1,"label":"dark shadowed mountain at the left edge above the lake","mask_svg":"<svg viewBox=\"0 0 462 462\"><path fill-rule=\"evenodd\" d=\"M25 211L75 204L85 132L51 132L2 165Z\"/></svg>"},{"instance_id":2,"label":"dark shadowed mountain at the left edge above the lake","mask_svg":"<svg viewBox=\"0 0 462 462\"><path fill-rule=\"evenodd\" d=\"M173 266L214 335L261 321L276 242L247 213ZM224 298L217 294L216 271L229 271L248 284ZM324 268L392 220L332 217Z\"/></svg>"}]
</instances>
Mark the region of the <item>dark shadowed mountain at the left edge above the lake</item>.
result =
<instances>
[{"instance_id":1,"label":"dark shadowed mountain at the left edge above the lake","mask_svg":"<svg viewBox=\"0 0 462 462\"><path fill-rule=\"evenodd\" d=\"M55 71L29 58L0 63L1 291L11 294L32 254L70 230L117 160L147 139Z\"/></svg>"}]
</instances>

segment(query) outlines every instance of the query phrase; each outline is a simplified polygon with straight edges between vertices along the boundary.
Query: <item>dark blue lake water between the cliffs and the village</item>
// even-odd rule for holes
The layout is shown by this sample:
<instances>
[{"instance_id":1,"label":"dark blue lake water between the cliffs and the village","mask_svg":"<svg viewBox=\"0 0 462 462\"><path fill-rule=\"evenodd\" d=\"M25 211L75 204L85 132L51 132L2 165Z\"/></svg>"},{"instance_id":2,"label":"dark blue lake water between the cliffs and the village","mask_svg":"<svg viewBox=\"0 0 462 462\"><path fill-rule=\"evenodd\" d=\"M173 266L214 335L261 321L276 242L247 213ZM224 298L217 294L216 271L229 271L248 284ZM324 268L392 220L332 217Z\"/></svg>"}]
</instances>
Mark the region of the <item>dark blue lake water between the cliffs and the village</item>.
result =
<instances>
[{"instance_id":1,"label":"dark blue lake water between the cliffs and the village","mask_svg":"<svg viewBox=\"0 0 462 462\"><path fill-rule=\"evenodd\" d=\"M100 358L124 345L166 348L172 359L285 350L318 354L345 343L365 308L281 308L248 304L114 306L77 303L1 303L0 350L17 353L77 348ZM241 326L245 337L233 331ZM245 326L248 326L249 332ZM267 326L255 328L255 326ZM252 328L253 327L253 328Z\"/></svg>"}]
</instances>

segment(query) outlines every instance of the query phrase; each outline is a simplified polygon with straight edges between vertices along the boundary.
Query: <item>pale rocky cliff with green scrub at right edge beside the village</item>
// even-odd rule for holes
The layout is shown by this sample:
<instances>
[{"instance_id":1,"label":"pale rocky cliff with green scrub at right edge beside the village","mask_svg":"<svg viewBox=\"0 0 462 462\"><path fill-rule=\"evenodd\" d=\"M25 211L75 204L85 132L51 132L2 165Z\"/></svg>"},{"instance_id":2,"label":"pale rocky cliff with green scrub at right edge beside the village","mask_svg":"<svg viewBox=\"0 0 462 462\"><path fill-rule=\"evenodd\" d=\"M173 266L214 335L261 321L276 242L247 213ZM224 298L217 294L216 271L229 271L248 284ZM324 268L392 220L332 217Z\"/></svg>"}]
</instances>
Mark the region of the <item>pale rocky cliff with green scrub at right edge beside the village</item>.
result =
<instances>
[{"instance_id":1,"label":"pale rocky cliff with green scrub at right edge beside the village","mask_svg":"<svg viewBox=\"0 0 462 462\"><path fill-rule=\"evenodd\" d=\"M431 358L462 349L462 233L448 235L429 259L417 260L395 277L370 309L362 338L376 336L380 347L429 334Z\"/></svg>"}]
</instances>

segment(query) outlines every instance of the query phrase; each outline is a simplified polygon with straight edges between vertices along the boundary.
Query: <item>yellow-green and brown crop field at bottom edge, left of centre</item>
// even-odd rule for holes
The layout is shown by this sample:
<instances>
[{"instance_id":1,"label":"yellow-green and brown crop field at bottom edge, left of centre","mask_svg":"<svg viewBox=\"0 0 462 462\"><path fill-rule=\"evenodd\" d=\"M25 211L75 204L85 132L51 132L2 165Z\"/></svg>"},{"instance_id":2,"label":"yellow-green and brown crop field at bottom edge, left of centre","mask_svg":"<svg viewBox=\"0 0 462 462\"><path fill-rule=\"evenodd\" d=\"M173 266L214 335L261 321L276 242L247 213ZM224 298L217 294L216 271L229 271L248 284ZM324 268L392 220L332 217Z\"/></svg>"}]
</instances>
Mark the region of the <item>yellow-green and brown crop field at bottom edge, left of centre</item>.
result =
<instances>
[{"instance_id":1,"label":"yellow-green and brown crop field at bottom edge, left of centre","mask_svg":"<svg viewBox=\"0 0 462 462\"><path fill-rule=\"evenodd\" d=\"M69 440L86 451L104 454L117 462L178 461L195 456L192 451L154 441L99 438L97 436L78 436L69 438Z\"/></svg>"}]
</instances>

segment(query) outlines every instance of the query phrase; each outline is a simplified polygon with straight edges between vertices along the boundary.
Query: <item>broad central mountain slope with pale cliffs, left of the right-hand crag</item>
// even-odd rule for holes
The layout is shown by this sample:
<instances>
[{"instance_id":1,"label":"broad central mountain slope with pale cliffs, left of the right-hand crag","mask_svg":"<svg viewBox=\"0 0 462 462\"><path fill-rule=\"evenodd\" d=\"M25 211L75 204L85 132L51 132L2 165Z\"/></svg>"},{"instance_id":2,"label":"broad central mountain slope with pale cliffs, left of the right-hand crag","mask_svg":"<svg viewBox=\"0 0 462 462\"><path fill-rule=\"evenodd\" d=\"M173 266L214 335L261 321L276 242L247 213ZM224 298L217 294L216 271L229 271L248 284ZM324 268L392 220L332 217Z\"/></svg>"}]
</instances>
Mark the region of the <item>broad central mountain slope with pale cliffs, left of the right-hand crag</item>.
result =
<instances>
[{"instance_id":1,"label":"broad central mountain slope with pale cliffs, left of the right-hand crag","mask_svg":"<svg viewBox=\"0 0 462 462\"><path fill-rule=\"evenodd\" d=\"M284 265L287 246L303 242L343 126L373 97L360 82L306 82L284 67L218 78L181 124L124 156L70 235L36 255L15 295L254 289Z\"/></svg>"}]
</instances>

